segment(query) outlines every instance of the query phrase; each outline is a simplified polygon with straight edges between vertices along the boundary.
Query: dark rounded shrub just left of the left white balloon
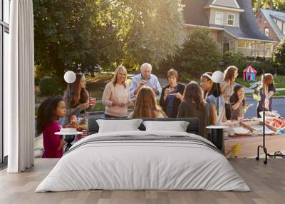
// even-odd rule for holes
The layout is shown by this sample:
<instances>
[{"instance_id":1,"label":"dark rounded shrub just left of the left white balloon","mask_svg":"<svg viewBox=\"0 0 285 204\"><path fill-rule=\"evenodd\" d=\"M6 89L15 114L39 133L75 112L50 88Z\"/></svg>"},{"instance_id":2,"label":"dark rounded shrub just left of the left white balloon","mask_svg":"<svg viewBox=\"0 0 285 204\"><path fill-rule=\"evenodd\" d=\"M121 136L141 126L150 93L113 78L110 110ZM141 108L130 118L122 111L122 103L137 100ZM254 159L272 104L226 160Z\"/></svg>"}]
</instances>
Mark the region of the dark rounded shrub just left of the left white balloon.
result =
<instances>
[{"instance_id":1,"label":"dark rounded shrub just left of the left white balloon","mask_svg":"<svg viewBox=\"0 0 285 204\"><path fill-rule=\"evenodd\" d=\"M42 96L53 96L63 93L63 86L57 78L45 77L40 83L40 91Z\"/></svg>"}]
</instances>

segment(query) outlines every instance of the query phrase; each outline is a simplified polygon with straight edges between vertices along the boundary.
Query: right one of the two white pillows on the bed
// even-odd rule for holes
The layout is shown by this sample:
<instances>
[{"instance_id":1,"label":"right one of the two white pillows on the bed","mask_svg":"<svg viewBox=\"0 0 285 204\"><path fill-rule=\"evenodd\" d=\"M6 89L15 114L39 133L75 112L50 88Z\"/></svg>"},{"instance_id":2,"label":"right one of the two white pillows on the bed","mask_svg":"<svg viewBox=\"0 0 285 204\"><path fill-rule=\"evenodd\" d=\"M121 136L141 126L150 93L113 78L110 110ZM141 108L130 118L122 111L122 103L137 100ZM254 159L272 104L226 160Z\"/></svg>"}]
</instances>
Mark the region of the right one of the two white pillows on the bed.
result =
<instances>
[{"instance_id":1,"label":"right one of the two white pillows on the bed","mask_svg":"<svg viewBox=\"0 0 285 204\"><path fill-rule=\"evenodd\" d=\"M189 122L186 121L144 121L145 131L186 132Z\"/></svg>"}]
</instances>

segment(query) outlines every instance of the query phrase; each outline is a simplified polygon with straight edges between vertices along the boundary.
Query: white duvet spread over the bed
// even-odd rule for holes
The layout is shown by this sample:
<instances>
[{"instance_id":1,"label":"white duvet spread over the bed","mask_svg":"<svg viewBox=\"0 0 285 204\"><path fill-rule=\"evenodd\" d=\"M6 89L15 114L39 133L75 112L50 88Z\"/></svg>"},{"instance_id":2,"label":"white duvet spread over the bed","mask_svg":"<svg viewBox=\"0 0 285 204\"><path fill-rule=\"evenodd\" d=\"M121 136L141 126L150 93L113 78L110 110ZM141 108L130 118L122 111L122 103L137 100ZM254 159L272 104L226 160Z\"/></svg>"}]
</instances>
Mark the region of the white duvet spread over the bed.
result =
<instances>
[{"instance_id":1,"label":"white duvet spread over the bed","mask_svg":"<svg viewBox=\"0 0 285 204\"><path fill-rule=\"evenodd\" d=\"M97 133L75 143L36 192L65 190L236 190L249 187L224 155L187 141L106 141L104 136L200 136L165 131ZM85 145L82 145L86 143Z\"/></svg>"}]
</instances>

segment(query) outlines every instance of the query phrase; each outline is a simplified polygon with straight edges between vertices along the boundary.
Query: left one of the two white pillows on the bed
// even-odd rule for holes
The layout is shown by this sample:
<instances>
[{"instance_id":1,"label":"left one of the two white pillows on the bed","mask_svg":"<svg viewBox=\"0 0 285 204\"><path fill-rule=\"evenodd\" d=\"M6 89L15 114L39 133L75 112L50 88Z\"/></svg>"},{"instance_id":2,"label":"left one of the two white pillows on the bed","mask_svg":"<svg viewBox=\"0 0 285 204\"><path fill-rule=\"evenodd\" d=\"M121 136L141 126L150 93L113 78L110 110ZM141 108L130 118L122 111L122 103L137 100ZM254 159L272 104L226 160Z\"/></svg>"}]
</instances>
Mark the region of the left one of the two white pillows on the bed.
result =
<instances>
[{"instance_id":1,"label":"left one of the two white pillows on the bed","mask_svg":"<svg viewBox=\"0 0 285 204\"><path fill-rule=\"evenodd\" d=\"M142 119L133 120L96 120L99 126L98 133L139 131Z\"/></svg>"}]
</instances>

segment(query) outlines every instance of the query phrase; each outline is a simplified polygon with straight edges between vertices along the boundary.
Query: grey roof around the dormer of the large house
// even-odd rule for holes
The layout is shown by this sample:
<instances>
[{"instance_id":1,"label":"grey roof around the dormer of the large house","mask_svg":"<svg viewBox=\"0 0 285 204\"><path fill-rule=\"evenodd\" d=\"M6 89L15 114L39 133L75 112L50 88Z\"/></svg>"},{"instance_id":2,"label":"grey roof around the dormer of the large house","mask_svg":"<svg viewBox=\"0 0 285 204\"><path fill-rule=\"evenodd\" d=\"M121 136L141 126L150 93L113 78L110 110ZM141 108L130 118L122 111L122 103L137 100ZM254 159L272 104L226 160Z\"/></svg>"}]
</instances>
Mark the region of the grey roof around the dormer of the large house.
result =
<instances>
[{"instance_id":1,"label":"grey roof around the dormer of the large house","mask_svg":"<svg viewBox=\"0 0 285 204\"><path fill-rule=\"evenodd\" d=\"M204 9L204 6L209 4L209 0L184 0L182 3L185 4L183 13L186 24L224 29L237 39L273 41L259 31L254 11L252 10L252 3L249 0L237 0L240 9L244 9L244 12L239 14L239 27L209 24L209 19Z\"/></svg>"}]
</instances>

